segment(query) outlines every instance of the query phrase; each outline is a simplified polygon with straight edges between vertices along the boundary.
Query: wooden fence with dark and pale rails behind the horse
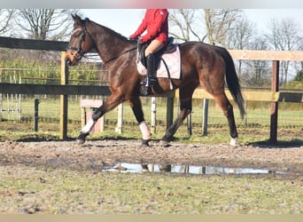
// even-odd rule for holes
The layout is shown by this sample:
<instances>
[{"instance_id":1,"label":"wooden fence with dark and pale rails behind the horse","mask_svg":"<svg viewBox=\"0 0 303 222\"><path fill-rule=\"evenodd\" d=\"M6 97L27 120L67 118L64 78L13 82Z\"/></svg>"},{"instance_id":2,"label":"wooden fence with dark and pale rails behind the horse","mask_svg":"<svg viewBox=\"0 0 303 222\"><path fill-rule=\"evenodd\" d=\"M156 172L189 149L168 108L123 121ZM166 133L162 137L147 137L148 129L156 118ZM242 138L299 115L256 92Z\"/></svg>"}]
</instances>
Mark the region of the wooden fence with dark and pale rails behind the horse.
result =
<instances>
[{"instance_id":1,"label":"wooden fence with dark and pale rails behind the horse","mask_svg":"<svg viewBox=\"0 0 303 222\"><path fill-rule=\"evenodd\" d=\"M40 41L18 39L10 37L0 37L0 47L11 49L43 50L61 52L61 84L60 85L40 85L40 84L16 84L0 83L0 93L13 94L57 94L60 95L60 139L66 139L67 131L67 95L109 95L110 91L107 86L85 86L85 85L68 85L68 67L65 63L65 51L67 42L57 41ZM272 60L272 86L271 91L243 91L246 100L261 100L271 102L270 111L270 142L276 143L277 129L277 110L278 102L303 102L302 92L280 92L278 89L279 80L279 61L280 60L303 60L303 52L268 52L268 51L229 51L233 59L253 59L253 60ZM178 93L170 92L162 97L167 97L167 124L173 121L174 98ZM231 99L229 91L227 91ZM203 91L197 89L194 92L194 98L212 99L212 97Z\"/></svg>"}]
</instances>

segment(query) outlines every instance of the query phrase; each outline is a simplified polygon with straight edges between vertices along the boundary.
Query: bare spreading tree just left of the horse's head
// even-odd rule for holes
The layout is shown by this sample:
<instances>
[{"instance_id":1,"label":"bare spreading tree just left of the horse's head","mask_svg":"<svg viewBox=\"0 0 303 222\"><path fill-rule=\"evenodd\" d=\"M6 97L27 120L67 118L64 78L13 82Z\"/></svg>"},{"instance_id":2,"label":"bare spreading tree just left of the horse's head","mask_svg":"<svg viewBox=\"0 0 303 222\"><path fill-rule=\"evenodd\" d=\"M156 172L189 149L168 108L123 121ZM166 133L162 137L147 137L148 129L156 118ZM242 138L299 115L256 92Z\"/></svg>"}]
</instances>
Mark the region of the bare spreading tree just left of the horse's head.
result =
<instances>
[{"instance_id":1,"label":"bare spreading tree just left of the horse's head","mask_svg":"<svg viewBox=\"0 0 303 222\"><path fill-rule=\"evenodd\" d=\"M19 36L39 40L64 40L70 35L74 21L71 13L79 10L66 9L20 9L15 19L21 30L26 31L26 36Z\"/></svg>"}]
</instances>

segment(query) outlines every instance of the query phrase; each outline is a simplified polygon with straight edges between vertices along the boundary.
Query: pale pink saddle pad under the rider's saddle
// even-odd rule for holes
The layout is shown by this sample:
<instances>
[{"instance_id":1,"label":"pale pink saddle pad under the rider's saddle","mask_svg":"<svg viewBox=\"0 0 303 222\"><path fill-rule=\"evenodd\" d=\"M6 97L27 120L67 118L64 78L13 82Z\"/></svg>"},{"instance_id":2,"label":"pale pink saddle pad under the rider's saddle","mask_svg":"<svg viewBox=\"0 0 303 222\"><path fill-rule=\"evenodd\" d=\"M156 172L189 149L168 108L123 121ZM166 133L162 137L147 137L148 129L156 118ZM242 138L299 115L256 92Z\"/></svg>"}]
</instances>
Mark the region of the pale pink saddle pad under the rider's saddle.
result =
<instances>
[{"instance_id":1,"label":"pale pink saddle pad under the rider's saddle","mask_svg":"<svg viewBox=\"0 0 303 222\"><path fill-rule=\"evenodd\" d=\"M166 65L164 64L165 61ZM136 59L136 68L140 75L147 75L147 69L144 67L142 62ZM167 68L169 70L169 75L167 73ZM157 69L158 78L172 78L180 79L181 76L181 59L179 47L176 47L175 52L165 53L162 55L162 59L159 62L159 67Z\"/></svg>"}]
</instances>

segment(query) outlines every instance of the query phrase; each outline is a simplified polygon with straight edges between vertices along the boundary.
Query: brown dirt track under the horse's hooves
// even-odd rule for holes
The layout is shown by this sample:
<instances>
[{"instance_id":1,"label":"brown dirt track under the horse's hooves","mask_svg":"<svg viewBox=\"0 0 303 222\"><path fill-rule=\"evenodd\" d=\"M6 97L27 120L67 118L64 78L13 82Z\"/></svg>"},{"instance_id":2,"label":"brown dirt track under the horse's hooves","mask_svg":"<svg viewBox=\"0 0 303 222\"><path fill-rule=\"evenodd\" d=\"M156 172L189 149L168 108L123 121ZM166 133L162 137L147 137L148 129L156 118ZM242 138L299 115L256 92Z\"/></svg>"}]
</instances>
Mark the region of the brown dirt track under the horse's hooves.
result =
<instances>
[{"instance_id":1,"label":"brown dirt track under the horse's hooves","mask_svg":"<svg viewBox=\"0 0 303 222\"><path fill-rule=\"evenodd\" d=\"M102 170L115 163L170 163L283 170L303 176L303 146L260 147L228 145L184 145L141 147L140 140L1 142L0 165L24 164L77 170Z\"/></svg>"}]
</instances>

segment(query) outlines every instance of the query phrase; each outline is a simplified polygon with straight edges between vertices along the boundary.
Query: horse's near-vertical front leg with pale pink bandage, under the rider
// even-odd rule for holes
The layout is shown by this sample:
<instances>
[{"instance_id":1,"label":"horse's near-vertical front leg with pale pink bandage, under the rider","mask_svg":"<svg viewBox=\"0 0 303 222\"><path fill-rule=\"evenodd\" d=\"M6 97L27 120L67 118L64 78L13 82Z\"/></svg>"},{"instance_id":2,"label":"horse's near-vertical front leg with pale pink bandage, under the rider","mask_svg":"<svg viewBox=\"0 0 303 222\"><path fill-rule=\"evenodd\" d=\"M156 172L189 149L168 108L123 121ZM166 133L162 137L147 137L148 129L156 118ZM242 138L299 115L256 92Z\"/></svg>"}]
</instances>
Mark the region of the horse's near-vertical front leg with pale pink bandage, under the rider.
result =
<instances>
[{"instance_id":1,"label":"horse's near-vertical front leg with pale pink bandage, under the rider","mask_svg":"<svg viewBox=\"0 0 303 222\"><path fill-rule=\"evenodd\" d=\"M149 141L151 140L151 130L144 120L144 112L142 110L141 99L138 97L133 97L128 100L128 103L133 110L136 121L139 124L140 131L142 132L142 145L149 147Z\"/></svg>"}]
</instances>

